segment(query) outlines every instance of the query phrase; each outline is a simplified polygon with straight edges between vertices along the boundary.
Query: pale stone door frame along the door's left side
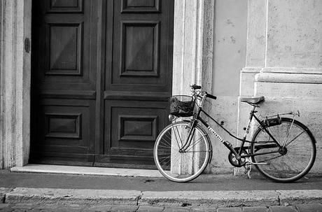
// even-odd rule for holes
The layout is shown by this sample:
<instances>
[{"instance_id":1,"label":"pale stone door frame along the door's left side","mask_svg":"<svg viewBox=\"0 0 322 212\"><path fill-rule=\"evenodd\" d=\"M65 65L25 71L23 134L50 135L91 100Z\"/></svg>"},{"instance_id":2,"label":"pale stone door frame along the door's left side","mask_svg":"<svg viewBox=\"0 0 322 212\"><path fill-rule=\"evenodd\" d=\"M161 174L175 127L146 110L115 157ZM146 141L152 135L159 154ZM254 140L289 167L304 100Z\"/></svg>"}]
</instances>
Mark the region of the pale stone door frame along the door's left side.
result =
<instances>
[{"instance_id":1,"label":"pale stone door frame along the door's left side","mask_svg":"<svg viewBox=\"0 0 322 212\"><path fill-rule=\"evenodd\" d=\"M29 158L30 38L31 0L2 0L0 169Z\"/></svg>"}]
</instances>

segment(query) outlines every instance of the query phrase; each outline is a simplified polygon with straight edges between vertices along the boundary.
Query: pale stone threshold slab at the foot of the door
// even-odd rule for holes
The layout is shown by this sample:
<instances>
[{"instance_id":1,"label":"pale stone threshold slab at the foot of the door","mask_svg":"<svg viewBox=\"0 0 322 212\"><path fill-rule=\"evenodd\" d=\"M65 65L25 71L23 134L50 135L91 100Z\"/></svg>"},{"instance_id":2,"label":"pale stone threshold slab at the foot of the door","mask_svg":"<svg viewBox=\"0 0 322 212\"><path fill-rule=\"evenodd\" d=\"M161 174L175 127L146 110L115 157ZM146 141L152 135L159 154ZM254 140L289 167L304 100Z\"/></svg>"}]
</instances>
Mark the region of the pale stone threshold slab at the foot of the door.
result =
<instances>
[{"instance_id":1,"label":"pale stone threshold slab at the foot of the door","mask_svg":"<svg viewBox=\"0 0 322 212\"><path fill-rule=\"evenodd\" d=\"M48 173L48 174L79 174L101 176L134 176L134 177L162 177L158 170L148 169L118 169L105 167L74 167L46 164L27 164L24 167L13 167L13 172Z\"/></svg>"}]
</instances>

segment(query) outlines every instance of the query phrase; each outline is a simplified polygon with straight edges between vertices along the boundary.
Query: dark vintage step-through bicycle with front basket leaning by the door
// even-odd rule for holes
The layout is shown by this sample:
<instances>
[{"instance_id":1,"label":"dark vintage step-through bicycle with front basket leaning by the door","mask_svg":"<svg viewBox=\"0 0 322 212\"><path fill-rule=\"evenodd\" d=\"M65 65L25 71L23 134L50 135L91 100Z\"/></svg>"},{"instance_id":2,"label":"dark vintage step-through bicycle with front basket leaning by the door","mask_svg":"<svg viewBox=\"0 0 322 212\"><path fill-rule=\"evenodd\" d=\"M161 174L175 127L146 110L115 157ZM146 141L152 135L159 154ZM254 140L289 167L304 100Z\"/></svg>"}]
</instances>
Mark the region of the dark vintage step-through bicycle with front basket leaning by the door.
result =
<instances>
[{"instance_id":1,"label":"dark vintage step-through bicycle with front basket leaning by the door","mask_svg":"<svg viewBox=\"0 0 322 212\"><path fill-rule=\"evenodd\" d=\"M297 181L309 172L316 158L316 140L305 125L295 120L295 116L300 116L300 112L280 113L260 120L255 115L258 112L256 108L265 101L265 97L242 98L242 102L250 104L253 108L248 125L244 127L244 136L238 138L203 110L205 100L216 97L202 91L200 85L191 85L190 88L192 96L170 98L169 120L172 124L165 127L155 141L153 157L165 178L175 182L188 182L200 176L206 169L211 161L212 146L209 134L202 125L230 150L230 164L234 167L244 167L248 176L251 165L255 165L265 177L280 183ZM230 136L241 141L240 146L234 148L229 141L224 141L201 118L201 113L216 122ZM284 117L287 115L293 115L293 118ZM183 117L191 118L179 120ZM257 125L254 125L253 119ZM248 141L246 137L251 127L257 129L253 132L251 141Z\"/></svg>"}]
</instances>

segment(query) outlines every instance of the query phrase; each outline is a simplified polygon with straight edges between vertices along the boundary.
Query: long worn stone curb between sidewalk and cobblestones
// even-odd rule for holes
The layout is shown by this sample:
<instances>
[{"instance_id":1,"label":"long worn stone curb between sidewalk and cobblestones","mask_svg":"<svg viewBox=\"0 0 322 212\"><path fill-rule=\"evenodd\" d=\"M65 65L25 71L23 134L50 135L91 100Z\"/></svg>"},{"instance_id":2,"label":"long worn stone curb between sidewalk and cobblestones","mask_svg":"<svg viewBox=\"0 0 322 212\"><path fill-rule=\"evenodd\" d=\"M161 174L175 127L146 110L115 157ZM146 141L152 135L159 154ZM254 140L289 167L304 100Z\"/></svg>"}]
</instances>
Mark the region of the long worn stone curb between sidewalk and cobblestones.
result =
<instances>
[{"instance_id":1,"label":"long worn stone curb between sidewalk and cobblestones","mask_svg":"<svg viewBox=\"0 0 322 212\"><path fill-rule=\"evenodd\" d=\"M288 206L319 204L322 190L171 191L0 188L6 204L125 204L140 206Z\"/></svg>"}]
</instances>

